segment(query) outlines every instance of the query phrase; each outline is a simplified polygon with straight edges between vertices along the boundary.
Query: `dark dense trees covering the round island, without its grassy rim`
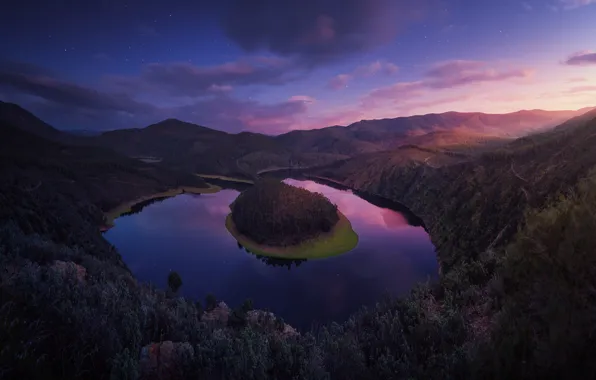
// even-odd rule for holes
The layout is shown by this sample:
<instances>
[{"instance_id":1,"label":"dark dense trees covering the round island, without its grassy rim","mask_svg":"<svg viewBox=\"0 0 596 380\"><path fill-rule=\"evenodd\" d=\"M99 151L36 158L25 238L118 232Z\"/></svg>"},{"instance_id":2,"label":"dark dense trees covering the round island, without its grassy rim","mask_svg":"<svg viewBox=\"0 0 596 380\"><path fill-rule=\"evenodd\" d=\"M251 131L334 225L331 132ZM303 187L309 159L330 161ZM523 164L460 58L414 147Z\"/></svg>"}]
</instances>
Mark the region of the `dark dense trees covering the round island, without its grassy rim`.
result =
<instances>
[{"instance_id":1,"label":"dark dense trees covering the round island, without its grassy rim","mask_svg":"<svg viewBox=\"0 0 596 380\"><path fill-rule=\"evenodd\" d=\"M241 234L258 244L292 246L329 232L338 222L337 206L323 194L262 179L230 206Z\"/></svg>"}]
</instances>

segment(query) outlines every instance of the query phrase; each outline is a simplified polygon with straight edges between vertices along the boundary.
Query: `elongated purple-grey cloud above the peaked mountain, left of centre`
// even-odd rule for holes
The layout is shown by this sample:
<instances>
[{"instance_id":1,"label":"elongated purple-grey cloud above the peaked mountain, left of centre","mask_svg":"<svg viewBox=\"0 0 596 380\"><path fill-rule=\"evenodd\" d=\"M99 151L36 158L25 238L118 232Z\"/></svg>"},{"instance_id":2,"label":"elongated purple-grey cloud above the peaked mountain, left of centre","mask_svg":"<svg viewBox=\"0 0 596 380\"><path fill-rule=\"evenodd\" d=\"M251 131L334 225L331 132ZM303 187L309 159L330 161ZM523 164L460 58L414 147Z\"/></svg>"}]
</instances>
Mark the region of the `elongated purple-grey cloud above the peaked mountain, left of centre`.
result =
<instances>
[{"instance_id":1,"label":"elongated purple-grey cloud above the peaked mountain, left of centre","mask_svg":"<svg viewBox=\"0 0 596 380\"><path fill-rule=\"evenodd\" d=\"M197 97L208 91L229 91L233 86L281 85L296 80L300 73L288 60L252 57L213 66L188 62L150 63L136 77L112 76L109 83L127 93L168 93Z\"/></svg>"}]
</instances>

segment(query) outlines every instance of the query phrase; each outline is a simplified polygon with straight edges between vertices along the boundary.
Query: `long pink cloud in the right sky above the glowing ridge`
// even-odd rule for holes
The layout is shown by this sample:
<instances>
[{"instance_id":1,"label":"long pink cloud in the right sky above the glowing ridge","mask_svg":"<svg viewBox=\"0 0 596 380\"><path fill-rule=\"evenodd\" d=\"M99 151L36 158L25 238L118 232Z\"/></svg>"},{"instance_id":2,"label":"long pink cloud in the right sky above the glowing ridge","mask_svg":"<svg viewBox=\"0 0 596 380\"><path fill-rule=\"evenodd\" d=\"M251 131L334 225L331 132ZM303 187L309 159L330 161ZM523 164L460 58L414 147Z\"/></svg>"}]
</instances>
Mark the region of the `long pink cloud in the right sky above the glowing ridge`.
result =
<instances>
[{"instance_id":1,"label":"long pink cloud in the right sky above the glowing ridge","mask_svg":"<svg viewBox=\"0 0 596 380\"><path fill-rule=\"evenodd\" d=\"M533 74L529 69L497 70L481 61L447 61L434 65L422 80L398 82L391 86L371 91L363 98L367 105L387 99L417 97L435 89L445 89L483 82L501 82L508 79L528 78Z\"/></svg>"}]
</instances>

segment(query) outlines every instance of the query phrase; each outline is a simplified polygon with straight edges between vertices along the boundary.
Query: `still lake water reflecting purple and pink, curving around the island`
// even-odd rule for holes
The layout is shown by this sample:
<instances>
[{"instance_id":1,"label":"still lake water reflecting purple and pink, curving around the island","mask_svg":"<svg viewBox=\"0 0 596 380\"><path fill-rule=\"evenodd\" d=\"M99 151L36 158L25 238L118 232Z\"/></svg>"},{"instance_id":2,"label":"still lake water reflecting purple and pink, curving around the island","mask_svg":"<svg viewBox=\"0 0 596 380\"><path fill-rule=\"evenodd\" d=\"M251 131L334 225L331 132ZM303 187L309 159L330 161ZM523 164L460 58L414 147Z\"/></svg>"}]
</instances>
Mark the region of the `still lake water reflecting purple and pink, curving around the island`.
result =
<instances>
[{"instance_id":1,"label":"still lake water reflecting purple and pink, curving around the island","mask_svg":"<svg viewBox=\"0 0 596 380\"><path fill-rule=\"evenodd\" d=\"M435 278L434 247L422 227L408 225L399 212L377 207L350 191L312 181L285 182L325 194L350 219L358 246L344 255L274 266L245 252L224 222L236 190L183 194L120 217L105 237L140 281L166 287L170 270L180 273L186 297L208 293L230 306L251 298L288 323L343 321L385 294L407 293ZM288 264L288 263L286 263ZM289 263L291 264L291 263Z\"/></svg>"}]
</instances>

